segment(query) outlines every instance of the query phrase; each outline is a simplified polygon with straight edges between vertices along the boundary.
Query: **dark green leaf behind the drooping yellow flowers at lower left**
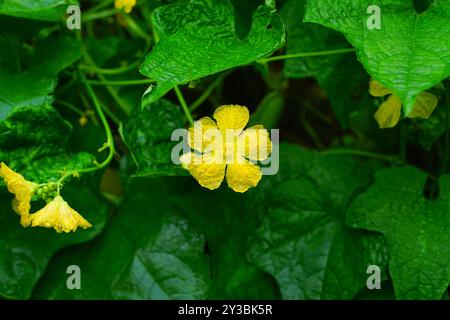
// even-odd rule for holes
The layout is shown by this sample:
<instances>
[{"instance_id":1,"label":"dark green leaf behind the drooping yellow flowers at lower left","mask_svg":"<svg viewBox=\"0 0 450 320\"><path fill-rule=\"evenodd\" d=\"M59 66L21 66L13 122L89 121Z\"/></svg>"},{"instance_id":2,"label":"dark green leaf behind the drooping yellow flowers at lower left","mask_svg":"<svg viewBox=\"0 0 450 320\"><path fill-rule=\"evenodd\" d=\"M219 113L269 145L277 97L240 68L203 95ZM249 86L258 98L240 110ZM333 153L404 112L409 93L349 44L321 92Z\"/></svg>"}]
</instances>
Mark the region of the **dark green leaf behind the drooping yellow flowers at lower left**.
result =
<instances>
[{"instance_id":1,"label":"dark green leaf behind the drooping yellow flowers at lower left","mask_svg":"<svg viewBox=\"0 0 450 320\"><path fill-rule=\"evenodd\" d=\"M19 216L11 209L12 195L0 195L0 296L29 298L57 251L92 239L103 229L107 208L89 187L67 186L62 195L72 208L93 225L92 228L71 234L58 234L44 228L25 229L19 223ZM60 273L66 276L66 269L71 264L65 265Z\"/></svg>"}]
</instances>

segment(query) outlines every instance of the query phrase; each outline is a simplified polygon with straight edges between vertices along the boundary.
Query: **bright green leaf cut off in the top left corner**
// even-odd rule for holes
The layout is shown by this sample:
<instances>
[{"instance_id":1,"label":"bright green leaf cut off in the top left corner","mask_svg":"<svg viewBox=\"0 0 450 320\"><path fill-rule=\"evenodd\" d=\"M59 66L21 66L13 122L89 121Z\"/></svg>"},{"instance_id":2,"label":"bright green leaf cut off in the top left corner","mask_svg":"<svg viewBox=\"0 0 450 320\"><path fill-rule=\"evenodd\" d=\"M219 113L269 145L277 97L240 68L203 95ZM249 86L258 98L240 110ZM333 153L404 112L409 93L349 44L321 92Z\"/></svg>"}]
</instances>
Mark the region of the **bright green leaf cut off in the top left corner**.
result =
<instances>
[{"instance_id":1,"label":"bright green leaf cut off in the top left corner","mask_svg":"<svg viewBox=\"0 0 450 320\"><path fill-rule=\"evenodd\" d=\"M44 21L62 21L67 7L76 0L7 0L0 2L0 14Z\"/></svg>"}]
</instances>

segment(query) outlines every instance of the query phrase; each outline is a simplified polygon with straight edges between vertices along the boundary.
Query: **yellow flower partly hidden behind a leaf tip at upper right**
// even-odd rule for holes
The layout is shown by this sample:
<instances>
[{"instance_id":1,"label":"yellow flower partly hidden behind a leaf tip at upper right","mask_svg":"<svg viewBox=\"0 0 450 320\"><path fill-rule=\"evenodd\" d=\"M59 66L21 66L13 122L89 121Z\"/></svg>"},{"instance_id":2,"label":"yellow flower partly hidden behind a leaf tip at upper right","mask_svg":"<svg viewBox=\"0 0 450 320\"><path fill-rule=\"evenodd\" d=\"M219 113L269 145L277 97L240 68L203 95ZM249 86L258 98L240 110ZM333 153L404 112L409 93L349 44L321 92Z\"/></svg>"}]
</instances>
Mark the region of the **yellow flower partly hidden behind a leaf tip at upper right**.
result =
<instances>
[{"instance_id":1,"label":"yellow flower partly hidden behind a leaf tip at upper right","mask_svg":"<svg viewBox=\"0 0 450 320\"><path fill-rule=\"evenodd\" d=\"M385 102L383 102L375 113L375 120L377 120L380 128L393 128L400 120L402 101L390 89L384 87L376 80L370 81L369 93L374 97L384 97L390 95ZM408 118L428 119L436 108L438 99L434 94L429 92L422 92L416 98L413 110L408 114Z\"/></svg>"}]
</instances>

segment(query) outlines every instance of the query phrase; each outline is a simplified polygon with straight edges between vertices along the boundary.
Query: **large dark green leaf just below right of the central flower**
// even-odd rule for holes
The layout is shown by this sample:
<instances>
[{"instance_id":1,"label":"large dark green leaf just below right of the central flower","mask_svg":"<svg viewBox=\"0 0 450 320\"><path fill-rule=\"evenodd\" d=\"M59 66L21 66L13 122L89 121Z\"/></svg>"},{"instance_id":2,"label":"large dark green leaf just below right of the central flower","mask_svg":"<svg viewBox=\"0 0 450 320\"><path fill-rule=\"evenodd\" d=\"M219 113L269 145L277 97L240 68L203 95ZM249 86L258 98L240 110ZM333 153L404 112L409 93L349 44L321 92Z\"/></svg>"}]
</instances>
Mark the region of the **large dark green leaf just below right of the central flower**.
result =
<instances>
[{"instance_id":1,"label":"large dark green leaf just below right of the central flower","mask_svg":"<svg viewBox=\"0 0 450 320\"><path fill-rule=\"evenodd\" d=\"M249 251L284 299L351 299L372 264L386 276L382 237L345 225L346 209L370 170L343 156L280 146L280 172L267 179L262 226Z\"/></svg>"}]
</instances>

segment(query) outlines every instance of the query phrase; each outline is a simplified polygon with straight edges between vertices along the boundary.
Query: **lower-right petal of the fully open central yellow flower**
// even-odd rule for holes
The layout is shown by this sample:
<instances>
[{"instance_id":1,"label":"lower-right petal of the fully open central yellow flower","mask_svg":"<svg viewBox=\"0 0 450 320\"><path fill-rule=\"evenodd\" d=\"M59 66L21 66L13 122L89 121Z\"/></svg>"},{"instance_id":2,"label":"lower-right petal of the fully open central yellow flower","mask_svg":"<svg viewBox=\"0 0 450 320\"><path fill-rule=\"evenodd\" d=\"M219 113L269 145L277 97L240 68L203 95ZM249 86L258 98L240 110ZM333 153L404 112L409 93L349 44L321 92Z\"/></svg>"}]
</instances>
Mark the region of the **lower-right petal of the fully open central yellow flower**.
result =
<instances>
[{"instance_id":1,"label":"lower-right petal of the fully open central yellow flower","mask_svg":"<svg viewBox=\"0 0 450 320\"><path fill-rule=\"evenodd\" d=\"M262 177L260 167L246 159L241 159L241 162L227 166L228 186L235 192L245 192L251 187L256 187Z\"/></svg>"}]
</instances>

